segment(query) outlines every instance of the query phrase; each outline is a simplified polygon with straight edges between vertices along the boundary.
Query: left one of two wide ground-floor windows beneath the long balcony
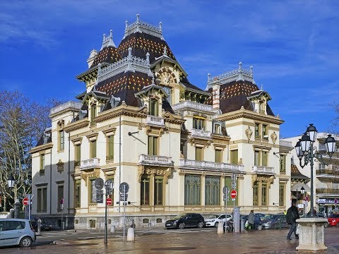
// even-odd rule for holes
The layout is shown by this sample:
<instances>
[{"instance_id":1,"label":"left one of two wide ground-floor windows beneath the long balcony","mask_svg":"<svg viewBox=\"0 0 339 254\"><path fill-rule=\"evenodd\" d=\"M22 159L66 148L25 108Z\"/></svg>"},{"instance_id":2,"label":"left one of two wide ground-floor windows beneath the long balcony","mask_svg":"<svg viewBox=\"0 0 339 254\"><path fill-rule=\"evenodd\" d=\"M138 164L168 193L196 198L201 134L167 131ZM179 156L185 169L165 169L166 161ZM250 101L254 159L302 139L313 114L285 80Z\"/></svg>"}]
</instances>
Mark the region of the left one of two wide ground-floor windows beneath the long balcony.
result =
<instances>
[{"instance_id":1,"label":"left one of two wide ground-floor windows beneath the long balcony","mask_svg":"<svg viewBox=\"0 0 339 254\"><path fill-rule=\"evenodd\" d=\"M201 176L185 176L185 205L201 204Z\"/></svg>"}]
</instances>

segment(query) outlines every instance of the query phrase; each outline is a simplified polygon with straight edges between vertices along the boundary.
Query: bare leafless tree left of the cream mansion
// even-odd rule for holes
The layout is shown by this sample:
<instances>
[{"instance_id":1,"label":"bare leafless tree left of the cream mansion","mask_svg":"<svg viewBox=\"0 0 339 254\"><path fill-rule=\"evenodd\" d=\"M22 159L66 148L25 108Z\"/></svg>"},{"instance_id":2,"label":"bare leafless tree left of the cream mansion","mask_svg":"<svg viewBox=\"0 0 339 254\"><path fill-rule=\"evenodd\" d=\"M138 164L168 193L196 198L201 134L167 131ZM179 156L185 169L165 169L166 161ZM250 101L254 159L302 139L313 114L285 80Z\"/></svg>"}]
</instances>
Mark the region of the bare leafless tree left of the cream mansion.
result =
<instances>
[{"instance_id":1,"label":"bare leafless tree left of the cream mansion","mask_svg":"<svg viewBox=\"0 0 339 254\"><path fill-rule=\"evenodd\" d=\"M4 210L31 191L32 161L29 151L50 125L48 105L30 102L20 92L0 93L0 189ZM7 185L9 176L16 179L13 195ZM1 203L0 203L1 204Z\"/></svg>"}]
</instances>

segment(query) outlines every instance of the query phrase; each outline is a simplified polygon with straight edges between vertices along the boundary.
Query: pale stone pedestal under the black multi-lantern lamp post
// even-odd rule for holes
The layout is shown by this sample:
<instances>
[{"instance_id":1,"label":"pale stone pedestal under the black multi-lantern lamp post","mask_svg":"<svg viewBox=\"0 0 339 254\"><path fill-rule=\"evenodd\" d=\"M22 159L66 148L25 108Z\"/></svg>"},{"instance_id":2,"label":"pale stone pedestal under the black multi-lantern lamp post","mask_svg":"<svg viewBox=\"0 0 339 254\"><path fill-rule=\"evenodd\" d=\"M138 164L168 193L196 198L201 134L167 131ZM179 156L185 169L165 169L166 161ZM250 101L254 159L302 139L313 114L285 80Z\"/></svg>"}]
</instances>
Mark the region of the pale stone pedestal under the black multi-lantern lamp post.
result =
<instances>
[{"instance_id":1,"label":"pale stone pedestal under the black multi-lantern lamp post","mask_svg":"<svg viewBox=\"0 0 339 254\"><path fill-rule=\"evenodd\" d=\"M297 219L299 223L299 246L297 250L327 250L325 246L325 223L327 219L309 217Z\"/></svg>"}]
</instances>

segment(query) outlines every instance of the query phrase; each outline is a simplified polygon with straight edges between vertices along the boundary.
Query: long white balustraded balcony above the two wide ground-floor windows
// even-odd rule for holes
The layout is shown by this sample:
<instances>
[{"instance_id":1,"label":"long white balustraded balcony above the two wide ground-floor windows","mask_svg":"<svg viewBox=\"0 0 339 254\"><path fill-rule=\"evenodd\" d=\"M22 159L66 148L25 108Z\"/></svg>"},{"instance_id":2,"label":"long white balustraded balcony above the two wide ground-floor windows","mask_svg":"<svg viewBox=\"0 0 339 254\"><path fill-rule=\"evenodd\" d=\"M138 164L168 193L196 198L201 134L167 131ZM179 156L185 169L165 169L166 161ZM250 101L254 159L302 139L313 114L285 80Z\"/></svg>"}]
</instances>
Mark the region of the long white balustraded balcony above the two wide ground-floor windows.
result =
<instances>
[{"instance_id":1,"label":"long white balustraded balcony above the two wide ground-floor windows","mask_svg":"<svg viewBox=\"0 0 339 254\"><path fill-rule=\"evenodd\" d=\"M244 166L218 162L196 161L193 159L180 159L180 169L194 169L203 171L218 171L244 174Z\"/></svg>"}]
</instances>

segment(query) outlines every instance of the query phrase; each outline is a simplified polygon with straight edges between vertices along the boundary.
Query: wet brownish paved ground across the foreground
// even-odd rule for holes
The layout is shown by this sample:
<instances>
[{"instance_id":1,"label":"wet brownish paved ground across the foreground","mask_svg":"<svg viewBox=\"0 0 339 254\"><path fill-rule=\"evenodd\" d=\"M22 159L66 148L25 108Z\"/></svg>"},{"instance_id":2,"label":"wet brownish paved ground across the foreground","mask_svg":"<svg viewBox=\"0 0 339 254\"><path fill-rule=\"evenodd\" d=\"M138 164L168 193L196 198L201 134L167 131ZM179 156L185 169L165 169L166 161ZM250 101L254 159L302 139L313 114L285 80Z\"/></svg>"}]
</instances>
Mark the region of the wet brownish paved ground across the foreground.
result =
<instances>
[{"instance_id":1,"label":"wet brownish paved ground across the foreground","mask_svg":"<svg viewBox=\"0 0 339 254\"><path fill-rule=\"evenodd\" d=\"M328 228L325 233L328 250L316 253L339 253L339 228ZM217 234L216 229L137 229L136 241L124 242L119 231L115 236L109 236L109 243L105 246L103 234L99 232L52 231L40 236L38 243L60 238L56 245L44 244L25 249L1 248L0 253L301 253L295 250L298 241L286 241L286 235L287 229L244 231L238 234ZM83 236L87 238L83 239ZM62 238L65 240L61 241Z\"/></svg>"}]
</instances>

